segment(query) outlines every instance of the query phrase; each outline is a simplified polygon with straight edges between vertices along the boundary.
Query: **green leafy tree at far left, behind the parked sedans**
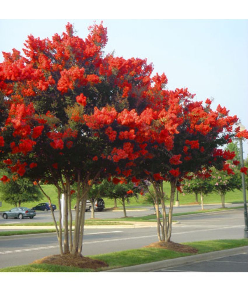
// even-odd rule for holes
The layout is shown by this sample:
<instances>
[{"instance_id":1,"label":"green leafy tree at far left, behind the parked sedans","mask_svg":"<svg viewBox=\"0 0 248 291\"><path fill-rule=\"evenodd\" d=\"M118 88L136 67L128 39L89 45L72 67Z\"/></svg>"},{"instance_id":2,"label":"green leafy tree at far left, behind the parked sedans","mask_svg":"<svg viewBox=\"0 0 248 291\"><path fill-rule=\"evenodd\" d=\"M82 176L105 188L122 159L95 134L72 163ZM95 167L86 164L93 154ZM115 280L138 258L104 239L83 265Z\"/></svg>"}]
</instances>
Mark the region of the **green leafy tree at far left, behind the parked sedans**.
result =
<instances>
[{"instance_id":1,"label":"green leafy tree at far left, behind the parked sedans","mask_svg":"<svg viewBox=\"0 0 248 291\"><path fill-rule=\"evenodd\" d=\"M5 202L21 207L25 202L39 201L43 197L39 188L29 179L17 179L15 175L5 174L10 177L8 183L0 183L1 199Z\"/></svg>"}]
</instances>

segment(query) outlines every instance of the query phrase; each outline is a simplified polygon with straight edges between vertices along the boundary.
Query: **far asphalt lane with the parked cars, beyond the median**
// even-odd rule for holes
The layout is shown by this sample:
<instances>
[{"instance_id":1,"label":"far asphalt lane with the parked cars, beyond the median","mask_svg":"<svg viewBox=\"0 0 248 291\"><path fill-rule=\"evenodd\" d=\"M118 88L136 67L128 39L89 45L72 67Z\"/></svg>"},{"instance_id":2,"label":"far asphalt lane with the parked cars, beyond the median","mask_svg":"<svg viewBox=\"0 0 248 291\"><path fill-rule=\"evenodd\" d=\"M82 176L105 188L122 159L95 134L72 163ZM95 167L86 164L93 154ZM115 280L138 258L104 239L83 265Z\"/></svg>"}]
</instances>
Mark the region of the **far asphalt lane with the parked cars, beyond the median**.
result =
<instances>
[{"instance_id":1,"label":"far asphalt lane with the parked cars, beyond the median","mask_svg":"<svg viewBox=\"0 0 248 291\"><path fill-rule=\"evenodd\" d=\"M234 206L242 206L242 204L226 204L226 207L234 207ZM214 209L220 208L220 204L206 204L204 209ZM149 214L154 214L153 207L130 207L132 210L127 210L128 216L144 216ZM166 207L168 209L168 207ZM189 211L197 211L200 210L200 205L182 205L179 207L173 208L173 213L181 213L181 212L189 212ZM55 218L57 221L59 220L59 211L55 210ZM1 215L1 214L0 214ZM72 210L73 219L75 217L75 210ZM91 217L90 212L85 212L85 218L89 219ZM103 211L103 212L95 212L95 218L120 218L123 217L123 211ZM9 224L9 223L31 223L31 222L53 222L53 218L50 211L36 211L36 216L32 219L24 218L23 220L15 219L15 218L8 218L3 219L0 217L0 224Z\"/></svg>"}]
</instances>

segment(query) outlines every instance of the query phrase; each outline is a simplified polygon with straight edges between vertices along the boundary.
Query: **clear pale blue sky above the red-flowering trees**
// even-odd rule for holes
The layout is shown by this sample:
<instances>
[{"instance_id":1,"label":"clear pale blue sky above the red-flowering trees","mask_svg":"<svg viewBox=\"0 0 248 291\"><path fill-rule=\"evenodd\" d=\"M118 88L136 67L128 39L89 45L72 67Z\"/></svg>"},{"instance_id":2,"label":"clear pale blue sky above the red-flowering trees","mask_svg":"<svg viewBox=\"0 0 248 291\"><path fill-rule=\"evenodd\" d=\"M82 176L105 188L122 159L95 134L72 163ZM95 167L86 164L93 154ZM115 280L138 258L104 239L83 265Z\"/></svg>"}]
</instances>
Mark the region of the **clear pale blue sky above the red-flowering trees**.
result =
<instances>
[{"instance_id":1,"label":"clear pale blue sky above the red-flowering trees","mask_svg":"<svg viewBox=\"0 0 248 291\"><path fill-rule=\"evenodd\" d=\"M41 38L61 34L68 21L85 38L94 20L0 20L1 51L21 50L29 34ZM103 23L109 37L106 53L147 58L154 73L165 72L169 89L188 87L197 100L214 98L214 109L226 106L248 129L248 20L103 19ZM244 151L247 156L247 142Z\"/></svg>"}]
</instances>

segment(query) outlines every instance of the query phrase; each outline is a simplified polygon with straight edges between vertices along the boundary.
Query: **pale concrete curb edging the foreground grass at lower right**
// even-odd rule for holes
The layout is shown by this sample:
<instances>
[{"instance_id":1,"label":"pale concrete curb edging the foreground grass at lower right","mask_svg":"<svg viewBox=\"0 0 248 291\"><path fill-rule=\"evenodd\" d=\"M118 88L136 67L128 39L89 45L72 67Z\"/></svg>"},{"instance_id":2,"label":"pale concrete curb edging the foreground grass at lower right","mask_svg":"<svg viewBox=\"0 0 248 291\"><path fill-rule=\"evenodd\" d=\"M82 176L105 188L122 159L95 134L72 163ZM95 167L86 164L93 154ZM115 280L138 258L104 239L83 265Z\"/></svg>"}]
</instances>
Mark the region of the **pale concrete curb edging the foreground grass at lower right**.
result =
<instances>
[{"instance_id":1,"label":"pale concrete curb edging the foreground grass at lower right","mask_svg":"<svg viewBox=\"0 0 248 291\"><path fill-rule=\"evenodd\" d=\"M209 253L198 254L198 255L191 255L191 256L186 256L182 258L169 259L169 260L164 260L164 261L112 269L112 270L101 271L101 272L150 272L150 271L155 271L158 269L176 267L176 266L189 264L189 263L198 263L198 262L206 261L210 259L219 259L225 256L242 254L244 252L248 252L248 246L237 247L234 249L225 249L222 251L209 252Z\"/></svg>"}]
</instances>

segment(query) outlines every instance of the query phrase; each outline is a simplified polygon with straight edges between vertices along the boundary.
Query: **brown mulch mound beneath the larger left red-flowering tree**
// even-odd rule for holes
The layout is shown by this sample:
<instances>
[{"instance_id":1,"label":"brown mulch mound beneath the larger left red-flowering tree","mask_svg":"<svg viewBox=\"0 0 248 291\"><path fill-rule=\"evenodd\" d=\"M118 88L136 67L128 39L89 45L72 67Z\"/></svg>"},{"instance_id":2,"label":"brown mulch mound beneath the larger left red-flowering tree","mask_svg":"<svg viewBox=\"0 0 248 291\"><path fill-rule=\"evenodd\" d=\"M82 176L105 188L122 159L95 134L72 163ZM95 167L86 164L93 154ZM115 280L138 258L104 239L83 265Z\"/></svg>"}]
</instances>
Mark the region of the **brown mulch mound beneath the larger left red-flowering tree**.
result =
<instances>
[{"instance_id":1,"label":"brown mulch mound beneath the larger left red-flowering tree","mask_svg":"<svg viewBox=\"0 0 248 291\"><path fill-rule=\"evenodd\" d=\"M97 269L108 267L109 265L103 261L93 260L84 256L73 256L71 254L47 256L39 260L35 260L32 264L52 264L60 266L70 266L77 268Z\"/></svg>"}]
</instances>

